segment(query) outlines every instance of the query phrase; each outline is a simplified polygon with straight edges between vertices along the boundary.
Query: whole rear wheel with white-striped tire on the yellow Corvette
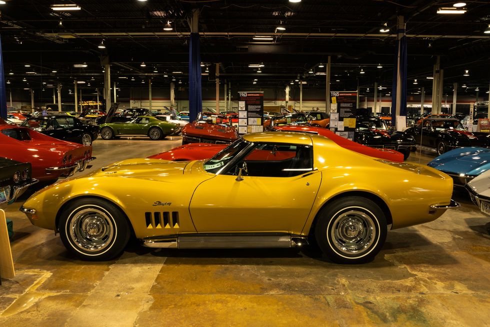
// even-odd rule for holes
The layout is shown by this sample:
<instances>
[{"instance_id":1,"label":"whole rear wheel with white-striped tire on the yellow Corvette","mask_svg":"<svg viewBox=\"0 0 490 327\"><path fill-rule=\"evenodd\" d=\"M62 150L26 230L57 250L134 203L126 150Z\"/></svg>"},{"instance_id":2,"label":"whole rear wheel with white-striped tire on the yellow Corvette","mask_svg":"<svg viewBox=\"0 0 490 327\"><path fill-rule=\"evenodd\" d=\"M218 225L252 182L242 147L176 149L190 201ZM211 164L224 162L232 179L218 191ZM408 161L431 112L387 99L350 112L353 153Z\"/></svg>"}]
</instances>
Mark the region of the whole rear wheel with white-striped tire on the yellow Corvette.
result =
<instances>
[{"instance_id":1,"label":"whole rear wheel with white-striped tire on the yellow Corvette","mask_svg":"<svg viewBox=\"0 0 490 327\"><path fill-rule=\"evenodd\" d=\"M373 201L344 197L327 204L319 213L315 239L334 262L363 263L372 260L386 240L386 218Z\"/></svg>"}]
</instances>

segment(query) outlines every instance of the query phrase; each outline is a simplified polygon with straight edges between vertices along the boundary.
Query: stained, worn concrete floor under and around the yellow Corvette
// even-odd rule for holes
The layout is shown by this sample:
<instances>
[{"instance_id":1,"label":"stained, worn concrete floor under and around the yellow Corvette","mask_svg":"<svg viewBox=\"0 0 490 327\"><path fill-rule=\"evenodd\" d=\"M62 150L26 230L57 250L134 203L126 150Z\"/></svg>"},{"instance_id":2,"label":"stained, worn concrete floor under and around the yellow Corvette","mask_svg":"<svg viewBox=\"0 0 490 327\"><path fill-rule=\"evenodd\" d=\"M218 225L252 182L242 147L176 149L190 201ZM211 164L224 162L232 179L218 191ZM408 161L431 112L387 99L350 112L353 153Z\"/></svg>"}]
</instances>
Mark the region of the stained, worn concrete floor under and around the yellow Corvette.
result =
<instances>
[{"instance_id":1,"label":"stained, worn concrete floor under and around the yellow Corvette","mask_svg":"<svg viewBox=\"0 0 490 327\"><path fill-rule=\"evenodd\" d=\"M93 168L180 144L97 140ZM434 156L424 154L426 163ZM412 153L411 161L418 161ZM148 249L84 262L18 208L16 277L2 279L1 326L484 326L490 321L490 217L464 192L436 221L390 231L376 259L337 265L308 249Z\"/></svg>"}]
</instances>

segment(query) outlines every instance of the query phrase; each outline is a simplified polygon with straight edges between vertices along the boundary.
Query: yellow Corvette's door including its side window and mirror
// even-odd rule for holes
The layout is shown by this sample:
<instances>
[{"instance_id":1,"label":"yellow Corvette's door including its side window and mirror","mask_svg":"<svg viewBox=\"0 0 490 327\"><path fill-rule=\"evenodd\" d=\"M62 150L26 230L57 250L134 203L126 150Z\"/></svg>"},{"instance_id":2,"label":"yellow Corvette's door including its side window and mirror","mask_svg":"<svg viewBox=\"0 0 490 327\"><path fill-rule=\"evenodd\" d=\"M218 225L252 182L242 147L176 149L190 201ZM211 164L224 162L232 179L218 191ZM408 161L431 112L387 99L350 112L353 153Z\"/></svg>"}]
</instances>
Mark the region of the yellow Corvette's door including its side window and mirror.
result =
<instances>
[{"instance_id":1,"label":"yellow Corvette's door including its side window and mirror","mask_svg":"<svg viewBox=\"0 0 490 327\"><path fill-rule=\"evenodd\" d=\"M239 180L242 163L247 172ZM312 146L258 144L197 186L190 214L198 232L300 232L320 181Z\"/></svg>"}]
</instances>

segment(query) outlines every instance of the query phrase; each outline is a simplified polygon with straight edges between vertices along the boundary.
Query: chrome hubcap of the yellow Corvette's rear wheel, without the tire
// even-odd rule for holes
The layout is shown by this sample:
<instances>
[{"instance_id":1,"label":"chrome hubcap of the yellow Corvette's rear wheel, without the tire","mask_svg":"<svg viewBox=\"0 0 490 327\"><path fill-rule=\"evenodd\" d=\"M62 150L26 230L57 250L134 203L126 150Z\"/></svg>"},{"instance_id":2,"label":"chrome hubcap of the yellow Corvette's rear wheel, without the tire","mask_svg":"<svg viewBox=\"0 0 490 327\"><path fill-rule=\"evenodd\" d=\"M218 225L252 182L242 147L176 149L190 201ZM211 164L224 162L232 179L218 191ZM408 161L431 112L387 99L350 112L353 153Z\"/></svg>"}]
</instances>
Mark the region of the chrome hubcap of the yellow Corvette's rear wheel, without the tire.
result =
<instances>
[{"instance_id":1,"label":"chrome hubcap of the yellow Corvette's rear wheel, without the tire","mask_svg":"<svg viewBox=\"0 0 490 327\"><path fill-rule=\"evenodd\" d=\"M356 254L371 246L375 233L374 222L366 213L350 210L335 218L330 237L341 252Z\"/></svg>"}]
</instances>

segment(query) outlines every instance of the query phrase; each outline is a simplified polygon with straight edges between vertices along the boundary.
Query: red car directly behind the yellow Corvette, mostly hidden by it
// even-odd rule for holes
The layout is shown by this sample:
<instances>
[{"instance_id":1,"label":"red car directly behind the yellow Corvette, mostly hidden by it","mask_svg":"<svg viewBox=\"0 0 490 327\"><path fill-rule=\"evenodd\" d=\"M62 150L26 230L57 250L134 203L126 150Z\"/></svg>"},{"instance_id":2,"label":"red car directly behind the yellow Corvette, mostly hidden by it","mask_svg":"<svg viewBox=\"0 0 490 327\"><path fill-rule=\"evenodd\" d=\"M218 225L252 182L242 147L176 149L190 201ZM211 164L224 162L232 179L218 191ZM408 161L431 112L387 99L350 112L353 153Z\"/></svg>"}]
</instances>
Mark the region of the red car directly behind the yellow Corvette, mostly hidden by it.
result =
<instances>
[{"instance_id":1,"label":"red car directly behind the yellow Corvette, mostly hidden by it","mask_svg":"<svg viewBox=\"0 0 490 327\"><path fill-rule=\"evenodd\" d=\"M389 160L393 162L403 162L403 154L398 151L390 150L390 149L374 149L359 143L349 141L341 136L336 135L328 129L324 129L321 127L312 127L312 126L274 126L273 129L275 131L283 131L283 132L302 132L302 133L312 133L318 134L324 137L329 138L339 146L349 149L351 151L365 154L370 157L375 157L383 160ZM208 143L193 143L193 144L185 144L179 147L176 147L172 150L158 153L152 155L148 158L150 159L163 159L163 160L172 160L172 161L186 161L186 160L203 160L209 159L214 154L218 153L228 144L208 144Z\"/></svg>"}]
</instances>

